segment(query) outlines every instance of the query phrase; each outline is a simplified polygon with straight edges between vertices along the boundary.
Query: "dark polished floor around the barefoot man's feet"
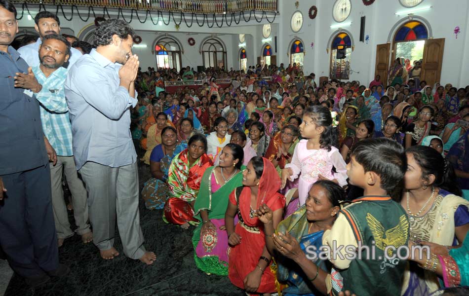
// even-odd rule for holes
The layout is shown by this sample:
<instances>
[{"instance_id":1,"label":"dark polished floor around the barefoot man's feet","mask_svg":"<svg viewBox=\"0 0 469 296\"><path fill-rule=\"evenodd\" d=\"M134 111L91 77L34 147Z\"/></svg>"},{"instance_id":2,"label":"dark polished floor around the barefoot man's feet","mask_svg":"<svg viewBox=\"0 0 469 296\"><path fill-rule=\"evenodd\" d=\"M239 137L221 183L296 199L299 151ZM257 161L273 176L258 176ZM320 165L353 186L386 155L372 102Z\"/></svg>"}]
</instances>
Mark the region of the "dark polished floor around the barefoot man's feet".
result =
<instances>
[{"instance_id":1,"label":"dark polished floor around the barefoot man's feet","mask_svg":"<svg viewBox=\"0 0 469 296\"><path fill-rule=\"evenodd\" d=\"M142 151L137 151L142 155ZM139 161L140 189L150 178L150 169ZM165 224L162 210L149 211L140 200L140 221L145 247L156 253L156 262L147 266L139 260L126 258L123 253L113 260L103 260L98 249L83 245L78 235L65 240L59 249L62 263L71 273L52 279L33 290L14 275L5 296L242 296L228 277L206 275L194 263L193 227L184 230ZM73 216L70 217L73 222ZM74 225L75 227L75 225ZM116 229L115 247L122 251Z\"/></svg>"}]
</instances>

